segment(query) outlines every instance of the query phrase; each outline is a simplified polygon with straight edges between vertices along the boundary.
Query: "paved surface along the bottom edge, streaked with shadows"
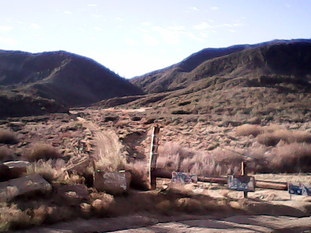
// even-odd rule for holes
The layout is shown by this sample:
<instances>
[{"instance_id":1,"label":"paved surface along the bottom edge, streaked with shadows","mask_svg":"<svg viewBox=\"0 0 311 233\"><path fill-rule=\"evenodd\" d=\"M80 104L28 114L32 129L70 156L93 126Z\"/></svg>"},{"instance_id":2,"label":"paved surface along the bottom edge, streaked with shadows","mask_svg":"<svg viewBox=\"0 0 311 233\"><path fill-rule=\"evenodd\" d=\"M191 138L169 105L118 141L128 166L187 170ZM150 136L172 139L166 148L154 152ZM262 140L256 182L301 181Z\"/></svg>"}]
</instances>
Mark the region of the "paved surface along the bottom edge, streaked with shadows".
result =
<instances>
[{"instance_id":1,"label":"paved surface along the bottom edge, streaked with shadows","mask_svg":"<svg viewBox=\"0 0 311 233\"><path fill-rule=\"evenodd\" d=\"M181 220L186 218L190 220ZM183 216L179 221L159 223L146 216L93 220L78 219L19 233L311 233L311 217L289 216Z\"/></svg>"}]
</instances>

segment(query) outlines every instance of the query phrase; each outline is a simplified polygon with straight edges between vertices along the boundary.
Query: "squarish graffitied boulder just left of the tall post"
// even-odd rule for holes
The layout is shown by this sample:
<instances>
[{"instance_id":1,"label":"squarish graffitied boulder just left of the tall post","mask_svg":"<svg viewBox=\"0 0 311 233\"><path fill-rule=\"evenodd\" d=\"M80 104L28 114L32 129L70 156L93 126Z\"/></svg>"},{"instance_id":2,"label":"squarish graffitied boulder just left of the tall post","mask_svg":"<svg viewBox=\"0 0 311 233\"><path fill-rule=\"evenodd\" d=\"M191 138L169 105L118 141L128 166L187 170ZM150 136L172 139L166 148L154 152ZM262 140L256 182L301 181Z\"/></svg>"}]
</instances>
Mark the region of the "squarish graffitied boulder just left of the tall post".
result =
<instances>
[{"instance_id":1,"label":"squarish graffitied boulder just left of the tall post","mask_svg":"<svg viewBox=\"0 0 311 233\"><path fill-rule=\"evenodd\" d=\"M129 189L131 173L128 171L95 172L94 187L100 192L120 195Z\"/></svg>"}]
</instances>

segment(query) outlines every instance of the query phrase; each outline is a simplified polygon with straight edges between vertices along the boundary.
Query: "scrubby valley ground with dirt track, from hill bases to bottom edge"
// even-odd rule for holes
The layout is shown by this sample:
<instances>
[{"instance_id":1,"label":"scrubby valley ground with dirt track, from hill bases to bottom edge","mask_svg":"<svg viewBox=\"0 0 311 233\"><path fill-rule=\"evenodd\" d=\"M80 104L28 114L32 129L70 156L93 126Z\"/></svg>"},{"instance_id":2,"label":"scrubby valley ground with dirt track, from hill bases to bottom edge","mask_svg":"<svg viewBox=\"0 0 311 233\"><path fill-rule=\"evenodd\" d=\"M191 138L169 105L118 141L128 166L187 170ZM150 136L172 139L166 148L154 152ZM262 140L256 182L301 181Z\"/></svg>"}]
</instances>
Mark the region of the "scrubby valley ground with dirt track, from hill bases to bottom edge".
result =
<instances>
[{"instance_id":1,"label":"scrubby valley ground with dirt track, from hill bases to bottom edge","mask_svg":"<svg viewBox=\"0 0 311 233\"><path fill-rule=\"evenodd\" d=\"M311 184L306 173L310 171L310 121L262 122L256 117L236 120L202 114L168 114L164 110L163 113L161 109L153 108L92 107L73 109L70 114L2 120L1 162L26 161L29 164L18 176L39 174L51 187L45 189L43 196L33 192L25 196L25 193L18 194L12 188L4 187L0 206L1 230L17 230L77 217L110 218L104 218L104 222L79 220L86 228L75 228L75 222L71 225L59 223L40 232L55 232L56 226L59 226L58 232L82 232L82 229L84 232L104 232L148 225L152 227L139 231L204 232L213 229L222 232L227 228L244 232L282 232L294 228L294 222L300 224L295 228L296 232L308 229L311 224L306 218L311 213L309 199L293 196L290 200L286 191L258 189L244 200L241 192L229 192L222 185L180 188L171 187L167 180L159 180L155 191L131 189L125 196L96 190L90 177L98 168L129 170L135 187L139 182L140 188L146 186L151 132L156 124L161 126L158 168L201 176L225 176L239 174L241 161L247 161L247 172L256 173L256 179ZM272 174L259 174L264 172ZM10 178L16 177L6 177L6 180ZM6 182L5 178L2 182ZM33 186L29 184L29 187ZM191 216L178 218L186 213ZM217 219L206 217L220 213ZM204 220L190 221L198 217L194 214ZM136 222L131 220L133 215L138 219ZM118 222L127 219L124 216L129 219L119 226ZM248 220L252 223L245 222ZM284 225L285 220L293 224ZM177 222L163 223L169 221ZM264 225L266 221L271 224ZM93 229L93 226L97 228Z\"/></svg>"}]
</instances>

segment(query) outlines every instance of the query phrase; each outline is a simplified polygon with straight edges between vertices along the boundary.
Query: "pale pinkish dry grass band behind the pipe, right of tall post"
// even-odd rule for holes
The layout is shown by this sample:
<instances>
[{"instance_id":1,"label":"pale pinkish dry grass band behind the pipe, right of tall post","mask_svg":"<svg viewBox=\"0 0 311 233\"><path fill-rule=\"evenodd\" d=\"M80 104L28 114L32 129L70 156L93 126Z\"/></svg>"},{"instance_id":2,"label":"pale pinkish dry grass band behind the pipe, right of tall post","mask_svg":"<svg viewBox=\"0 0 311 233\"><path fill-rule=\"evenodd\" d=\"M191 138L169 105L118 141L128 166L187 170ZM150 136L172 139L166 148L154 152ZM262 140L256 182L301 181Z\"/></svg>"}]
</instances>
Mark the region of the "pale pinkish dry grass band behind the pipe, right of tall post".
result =
<instances>
[{"instance_id":1,"label":"pale pinkish dry grass band behind the pipe, right of tall post","mask_svg":"<svg viewBox=\"0 0 311 233\"><path fill-rule=\"evenodd\" d=\"M235 150L238 153L222 148L197 151L178 143L167 142L159 147L157 167L167 171L190 172L199 176L240 174L241 162L245 160L247 160L247 170L250 173L267 172L273 168L271 159L265 158L266 148L264 146L259 145L253 149L236 148Z\"/></svg>"}]
</instances>

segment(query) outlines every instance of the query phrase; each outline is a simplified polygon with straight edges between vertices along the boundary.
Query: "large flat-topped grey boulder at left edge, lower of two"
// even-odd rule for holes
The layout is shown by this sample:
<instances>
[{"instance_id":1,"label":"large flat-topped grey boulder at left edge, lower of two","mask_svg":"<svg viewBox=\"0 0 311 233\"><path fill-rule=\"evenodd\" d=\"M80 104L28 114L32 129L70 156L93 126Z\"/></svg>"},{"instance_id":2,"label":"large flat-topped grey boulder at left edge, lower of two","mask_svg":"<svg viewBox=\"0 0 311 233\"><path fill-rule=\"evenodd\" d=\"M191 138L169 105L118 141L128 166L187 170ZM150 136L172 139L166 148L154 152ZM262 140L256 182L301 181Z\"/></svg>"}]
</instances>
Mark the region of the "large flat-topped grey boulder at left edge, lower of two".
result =
<instances>
[{"instance_id":1,"label":"large flat-topped grey boulder at left edge, lower of two","mask_svg":"<svg viewBox=\"0 0 311 233\"><path fill-rule=\"evenodd\" d=\"M34 174L0 183L0 201L10 201L18 196L50 193L52 185L41 175Z\"/></svg>"}]
</instances>

